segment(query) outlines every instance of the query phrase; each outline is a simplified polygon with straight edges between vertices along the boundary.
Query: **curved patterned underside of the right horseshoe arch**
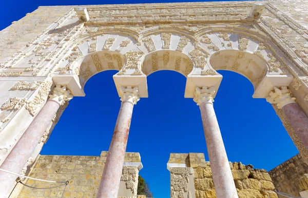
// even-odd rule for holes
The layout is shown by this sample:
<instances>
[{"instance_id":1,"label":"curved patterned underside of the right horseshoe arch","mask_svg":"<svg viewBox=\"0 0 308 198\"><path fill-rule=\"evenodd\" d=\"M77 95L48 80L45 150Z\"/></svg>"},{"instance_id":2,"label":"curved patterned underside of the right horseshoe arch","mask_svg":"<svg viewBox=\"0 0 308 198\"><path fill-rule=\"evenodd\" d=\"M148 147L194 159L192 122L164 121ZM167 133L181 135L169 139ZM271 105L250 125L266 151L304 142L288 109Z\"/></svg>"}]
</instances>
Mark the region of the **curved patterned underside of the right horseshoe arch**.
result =
<instances>
[{"instance_id":1,"label":"curved patterned underside of the right horseshoe arch","mask_svg":"<svg viewBox=\"0 0 308 198\"><path fill-rule=\"evenodd\" d=\"M214 70L229 70L245 76L256 87L268 72L264 59L244 51L221 50L209 58Z\"/></svg>"}]
</instances>

